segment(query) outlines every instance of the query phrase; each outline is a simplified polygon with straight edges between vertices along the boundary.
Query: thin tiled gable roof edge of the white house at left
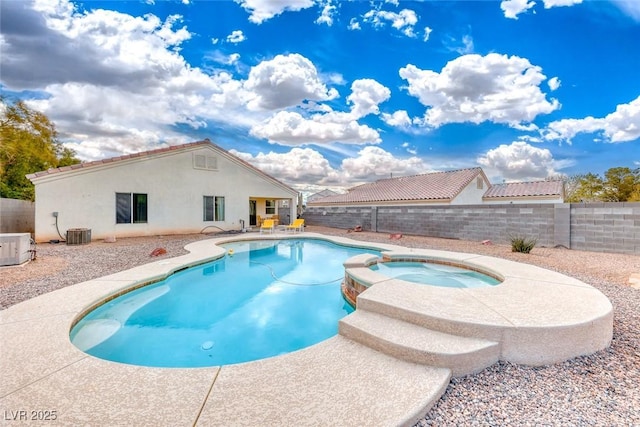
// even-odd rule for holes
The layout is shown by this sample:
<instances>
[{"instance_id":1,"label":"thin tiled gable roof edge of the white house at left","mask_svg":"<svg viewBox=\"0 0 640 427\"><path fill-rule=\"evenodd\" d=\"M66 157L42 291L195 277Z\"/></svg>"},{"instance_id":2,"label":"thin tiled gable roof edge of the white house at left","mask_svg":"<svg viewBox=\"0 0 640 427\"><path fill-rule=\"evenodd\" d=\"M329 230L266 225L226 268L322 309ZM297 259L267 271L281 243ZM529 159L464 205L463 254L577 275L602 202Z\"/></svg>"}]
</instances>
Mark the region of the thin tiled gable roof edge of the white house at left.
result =
<instances>
[{"instance_id":1,"label":"thin tiled gable roof edge of the white house at left","mask_svg":"<svg viewBox=\"0 0 640 427\"><path fill-rule=\"evenodd\" d=\"M255 166L251 165L250 163L246 162L245 160L234 156L233 154L229 153L227 150L223 149L222 147L214 144L213 142L211 142L209 139L204 139L202 141L196 141L196 142L190 142L187 144L181 144L181 145L171 145L169 147L164 147L164 148L158 148L155 150L149 150L149 151L143 151L140 153L133 153L133 154L125 154L122 156L117 156L117 157L111 157L108 159L102 159L102 160L95 160L95 161L91 161L91 162L83 162L83 163L78 163L75 165L70 165L70 166L63 166L61 168L54 168L54 169L48 169L46 171L41 171L41 172L36 172L36 173L32 173L27 175L27 178L30 179L32 182L35 183L35 181L38 181L40 178L44 178L44 177L49 177L52 175L56 175L56 174L66 174L66 173L72 173L72 172L77 172L77 171L85 171L87 169L90 168L97 168L100 166L107 166L107 165L113 165L114 163L118 163L118 162L124 162L127 160L144 160L145 158L152 158L158 155L162 155L162 154L166 154L166 153L172 153L172 152L181 152L181 151L188 151L188 150L192 150L195 148L200 148L200 147L209 147L212 148L216 151L219 151L221 154L225 155L227 158L229 158L230 160L233 160L236 163L240 163L242 166L249 168L251 170L253 170L254 172L257 172L259 175L262 175L264 178L266 178L269 181L272 181L282 187L285 187L286 189L290 190L293 193L297 194L297 190L294 190L293 188L289 187L288 185L286 185L285 183L277 180L276 178L272 177L271 175L266 174L265 172L261 171L260 169L256 168Z\"/></svg>"}]
</instances>

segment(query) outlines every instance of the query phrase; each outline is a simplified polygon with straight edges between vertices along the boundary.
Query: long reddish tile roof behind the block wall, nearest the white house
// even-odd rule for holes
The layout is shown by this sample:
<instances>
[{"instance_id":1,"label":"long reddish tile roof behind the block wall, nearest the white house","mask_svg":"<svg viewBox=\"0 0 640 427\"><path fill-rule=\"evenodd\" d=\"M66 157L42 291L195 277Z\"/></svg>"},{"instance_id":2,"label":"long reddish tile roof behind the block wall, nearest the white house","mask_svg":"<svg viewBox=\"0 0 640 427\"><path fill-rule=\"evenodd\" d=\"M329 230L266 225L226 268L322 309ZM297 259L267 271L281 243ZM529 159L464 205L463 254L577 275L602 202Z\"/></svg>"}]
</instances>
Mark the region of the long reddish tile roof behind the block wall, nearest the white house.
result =
<instances>
[{"instance_id":1,"label":"long reddish tile roof behind the block wall, nearest the white house","mask_svg":"<svg viewBox=\"0 0 640 427\"><path fill-rule=\"evenodd\" d=\"M323 197L310 204L450 201L478 176L489 182L481 168L387 178L351 188L346 194Z\"/></svg>"}]
</instances>

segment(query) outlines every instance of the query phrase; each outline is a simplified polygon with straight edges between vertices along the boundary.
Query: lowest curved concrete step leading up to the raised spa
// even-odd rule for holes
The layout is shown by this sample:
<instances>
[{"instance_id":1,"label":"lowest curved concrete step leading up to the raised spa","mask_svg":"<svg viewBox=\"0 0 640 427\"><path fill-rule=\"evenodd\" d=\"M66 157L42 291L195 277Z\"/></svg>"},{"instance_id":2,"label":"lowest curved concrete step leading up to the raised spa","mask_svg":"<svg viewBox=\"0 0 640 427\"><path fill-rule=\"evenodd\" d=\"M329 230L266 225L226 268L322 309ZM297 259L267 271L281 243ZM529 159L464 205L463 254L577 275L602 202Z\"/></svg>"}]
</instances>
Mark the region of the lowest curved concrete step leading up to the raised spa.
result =
<instances>
[{"instance_id":1,"label":"lowest curved concrete step leading up to the raised spa","mask_svg":"<svg viewBox=\"0 0 640 427\"><path fill-rule=\"evenodd\" d=\"M496 363L493 341L433 331L382 314L358 309L338 324L340 335L395 358L451 369L459 377Z\"/></svg>"}]
</instances>

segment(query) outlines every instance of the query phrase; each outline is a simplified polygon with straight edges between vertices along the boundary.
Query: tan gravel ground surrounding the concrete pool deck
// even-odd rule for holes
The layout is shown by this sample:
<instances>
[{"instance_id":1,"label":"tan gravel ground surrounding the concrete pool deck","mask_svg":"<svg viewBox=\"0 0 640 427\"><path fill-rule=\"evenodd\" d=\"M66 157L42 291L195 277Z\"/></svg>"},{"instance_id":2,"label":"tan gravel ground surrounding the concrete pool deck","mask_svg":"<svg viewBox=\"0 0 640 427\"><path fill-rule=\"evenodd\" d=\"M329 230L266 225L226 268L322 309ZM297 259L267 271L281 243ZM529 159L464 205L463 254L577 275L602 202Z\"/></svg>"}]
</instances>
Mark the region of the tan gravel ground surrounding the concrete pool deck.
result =
<instances>
[{"instance_id":1,"label":"tan gravel ground surrounding the concrete pool deck","mask_svg":"<svg viewBox=\"0 0 640 427\"><path fill-rule=\"evenodd\" d=\"M478 374L454 378L417 426L640 426L640 289L628 286L629 276L640 273L640 256L541 247L525 255L512 253L504 242L482 245L417 236L391 241L382 233L347 233L325 227L307 227L307 231L534 264L577 277L611 300L614 334L609 348L551 366L532 368L499 362ZM211 236L140 237L82 246L40 244L36 261L0 268L0 308L158 258L184 254L187 243ZM167 254L151 257L159 247Z\"/></svg>"}]
</instances>

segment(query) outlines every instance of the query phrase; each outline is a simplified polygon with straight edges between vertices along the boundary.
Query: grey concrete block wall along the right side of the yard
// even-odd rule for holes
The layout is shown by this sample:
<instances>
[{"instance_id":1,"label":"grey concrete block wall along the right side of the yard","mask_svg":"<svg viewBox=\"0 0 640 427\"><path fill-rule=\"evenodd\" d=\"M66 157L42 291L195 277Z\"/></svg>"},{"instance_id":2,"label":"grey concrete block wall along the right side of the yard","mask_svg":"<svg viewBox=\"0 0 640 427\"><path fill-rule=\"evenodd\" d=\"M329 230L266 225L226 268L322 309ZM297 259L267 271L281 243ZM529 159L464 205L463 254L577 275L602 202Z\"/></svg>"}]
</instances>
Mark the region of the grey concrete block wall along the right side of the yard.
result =
<instances>
[{"instance_id":1,"label":"grey concrete block wall along the right side of the yard","mask_svg":"<svg viewBox=\"0 0 640 427\"><path fill-rule=\"evenodd\" d=\"M538 246L640 254L640 203L309 207L303 217L308 225L496 243L518 235Z\"/></svg>"}]
</instances>

